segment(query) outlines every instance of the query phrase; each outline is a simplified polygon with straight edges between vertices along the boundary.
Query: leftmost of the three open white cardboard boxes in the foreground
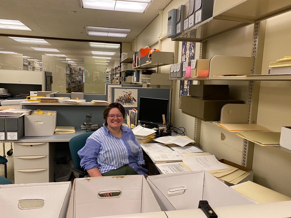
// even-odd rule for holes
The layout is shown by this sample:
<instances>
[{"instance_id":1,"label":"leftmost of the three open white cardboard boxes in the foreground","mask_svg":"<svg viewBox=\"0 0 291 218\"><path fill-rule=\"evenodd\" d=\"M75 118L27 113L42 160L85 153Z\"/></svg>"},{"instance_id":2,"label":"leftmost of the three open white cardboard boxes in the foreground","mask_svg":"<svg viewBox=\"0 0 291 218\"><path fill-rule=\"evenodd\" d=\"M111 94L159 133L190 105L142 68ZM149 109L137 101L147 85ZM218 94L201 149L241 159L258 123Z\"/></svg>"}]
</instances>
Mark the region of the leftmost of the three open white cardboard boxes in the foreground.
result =
<instances>
[{"instance_id":1,"label":"leftmost of the three open white cardboard boxes in the foreground","mask_svg":"<svg viewBox=\"0 0 291 218\"><path fill-rule=\"evenodd\" d=\"M65 218L71 182L0 185L1 217Z\"/></svg>"}]
</instances>

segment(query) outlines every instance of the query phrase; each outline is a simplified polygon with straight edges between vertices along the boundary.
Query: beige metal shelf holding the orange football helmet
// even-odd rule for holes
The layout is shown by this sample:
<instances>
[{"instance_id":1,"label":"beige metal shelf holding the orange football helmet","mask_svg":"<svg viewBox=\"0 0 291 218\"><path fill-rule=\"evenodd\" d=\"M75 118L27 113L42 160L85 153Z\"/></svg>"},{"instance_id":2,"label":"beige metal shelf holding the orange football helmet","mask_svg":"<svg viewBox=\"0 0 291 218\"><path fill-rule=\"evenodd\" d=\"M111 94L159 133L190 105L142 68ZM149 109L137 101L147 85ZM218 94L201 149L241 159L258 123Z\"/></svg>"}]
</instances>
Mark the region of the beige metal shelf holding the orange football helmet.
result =
<instances>
[{"instance_id":1,"label":"beige metal shelf holding the orange football helmet","mask_svg":"<svg viewBox=\"0 0 291 218\"><path fill-rule=\"evenodd\" d=\"M132 69L148 69L155 68L164 65L169 65L174 63L174 53L173 52L164 52L156 51L152 53L152 61L145 63L143 65L133 67Z\"/></svg>"}]
</instances>

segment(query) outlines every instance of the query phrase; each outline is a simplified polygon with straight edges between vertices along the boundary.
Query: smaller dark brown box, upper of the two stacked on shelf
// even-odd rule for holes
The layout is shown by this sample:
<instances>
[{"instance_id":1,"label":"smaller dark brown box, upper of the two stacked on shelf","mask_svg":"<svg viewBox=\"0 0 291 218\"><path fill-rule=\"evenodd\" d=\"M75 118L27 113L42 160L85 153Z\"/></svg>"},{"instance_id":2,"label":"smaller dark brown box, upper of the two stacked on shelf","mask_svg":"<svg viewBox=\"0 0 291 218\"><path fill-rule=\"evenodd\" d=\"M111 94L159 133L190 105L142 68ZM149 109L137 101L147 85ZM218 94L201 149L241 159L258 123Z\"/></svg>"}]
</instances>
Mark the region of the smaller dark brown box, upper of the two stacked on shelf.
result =
<instances>
[{"instance_id":1,"label":"smaller dark brown box, upper of the two stacked on shelf","mask_svg":"<svg viewBox=\"0 0 291 218\"><path fill-rule=\"evenodd\" d=\"M228 100L228 85L190 85L189 95L201 100Z\"/></svg>"}]
</instances>

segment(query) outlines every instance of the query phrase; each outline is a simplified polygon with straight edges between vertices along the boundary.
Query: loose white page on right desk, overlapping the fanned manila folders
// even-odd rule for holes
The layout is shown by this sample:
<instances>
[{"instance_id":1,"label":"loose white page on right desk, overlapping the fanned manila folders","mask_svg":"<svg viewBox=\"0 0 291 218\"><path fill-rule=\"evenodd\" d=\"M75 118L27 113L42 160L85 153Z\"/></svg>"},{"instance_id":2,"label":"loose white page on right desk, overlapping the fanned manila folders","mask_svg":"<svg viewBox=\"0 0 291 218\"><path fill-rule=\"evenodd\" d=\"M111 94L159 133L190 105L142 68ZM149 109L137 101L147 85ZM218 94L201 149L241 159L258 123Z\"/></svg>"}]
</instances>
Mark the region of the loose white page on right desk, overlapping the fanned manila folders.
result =
<instances>
[{"instance_id":1,"label":"loose white page on right desk, overlapping the fanned manila folders","mask_svg":"<svg viewBox=\"0 0 291 218\"><path fill-rule=\"evenodd\" d=\"M208 156L196 156L196 157L182 157L184 164L191 170L215 170L215 169L227 169L228 167L219 162L214 155Z\"/></svg>"}]
</instances>

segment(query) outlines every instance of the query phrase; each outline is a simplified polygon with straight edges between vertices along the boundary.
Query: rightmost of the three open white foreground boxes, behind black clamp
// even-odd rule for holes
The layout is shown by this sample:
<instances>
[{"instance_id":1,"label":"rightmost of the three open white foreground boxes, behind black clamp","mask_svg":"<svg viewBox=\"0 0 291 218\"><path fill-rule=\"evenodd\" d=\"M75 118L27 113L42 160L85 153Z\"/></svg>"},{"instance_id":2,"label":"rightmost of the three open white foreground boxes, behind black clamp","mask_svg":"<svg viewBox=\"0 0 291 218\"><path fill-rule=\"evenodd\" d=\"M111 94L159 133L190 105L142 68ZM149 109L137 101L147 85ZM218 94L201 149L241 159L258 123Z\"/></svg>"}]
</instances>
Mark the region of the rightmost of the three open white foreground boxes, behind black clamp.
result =
<instances>
[{"instance_id":1,"label":"rightmost of the three open white foreground boxes, behind black clamp","mask_svg":"<svg viewBox=\"0 0 291 218\"><path fill-rule=\"evenodd\" d=\"M206 171L149 176L147 181L164 211L195 209L200 200L212 208L254 203Z\"/></svg>"}]
</instances>

